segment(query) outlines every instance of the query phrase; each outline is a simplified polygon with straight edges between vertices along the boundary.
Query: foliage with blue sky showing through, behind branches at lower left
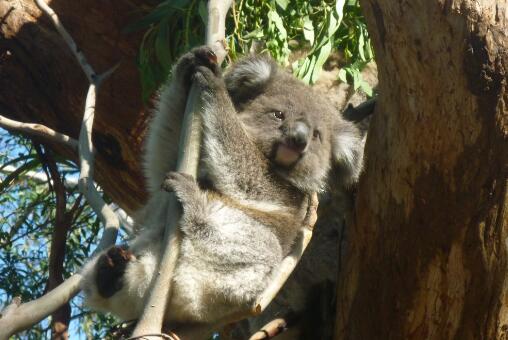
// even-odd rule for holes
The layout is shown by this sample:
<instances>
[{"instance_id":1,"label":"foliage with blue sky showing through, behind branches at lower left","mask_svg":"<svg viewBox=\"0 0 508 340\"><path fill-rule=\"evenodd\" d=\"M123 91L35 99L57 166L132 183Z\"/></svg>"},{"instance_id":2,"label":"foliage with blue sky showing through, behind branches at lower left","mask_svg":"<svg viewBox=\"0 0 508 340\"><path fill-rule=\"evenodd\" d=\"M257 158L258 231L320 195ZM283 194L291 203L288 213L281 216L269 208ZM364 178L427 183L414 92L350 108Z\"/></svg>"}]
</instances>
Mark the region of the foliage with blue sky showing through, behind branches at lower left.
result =
<instances>
[{"instance_id":1,"label":"foliage with blue sky showing through, behind branches at lower left","mask_svg":"<svg viewBox=\"0 0 508 340\"><path fill-rule=\"evenodd\" d=\"M42 296L48 281L48 258L51 234L55 222L55 195L48 181L41 179L42 163L29 140L9 135L0 130L0 306L15 296L30 301ZM58 160L63 178L75 181L75 164ZM34 170L34 171L32 171ZM31 171L31 172L30 172ZM35 175L34 175L35 174ZM70 208L79 193L76 186L68 185L67 207ZM77 214L71 222L67 237L64 276L76 272L95 249L100 237L100 221L93 210L78 201ZM80 299L74 299L71 327L73 334L89 334L103 338L111 317L88 313ZM75 326L72 326L72 325ZM80 325L77 327L76 325ZM50 338L50 321L46 319L30 330L19 334L19 339Z\"/></svg>"}]
</instances>

